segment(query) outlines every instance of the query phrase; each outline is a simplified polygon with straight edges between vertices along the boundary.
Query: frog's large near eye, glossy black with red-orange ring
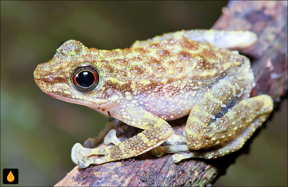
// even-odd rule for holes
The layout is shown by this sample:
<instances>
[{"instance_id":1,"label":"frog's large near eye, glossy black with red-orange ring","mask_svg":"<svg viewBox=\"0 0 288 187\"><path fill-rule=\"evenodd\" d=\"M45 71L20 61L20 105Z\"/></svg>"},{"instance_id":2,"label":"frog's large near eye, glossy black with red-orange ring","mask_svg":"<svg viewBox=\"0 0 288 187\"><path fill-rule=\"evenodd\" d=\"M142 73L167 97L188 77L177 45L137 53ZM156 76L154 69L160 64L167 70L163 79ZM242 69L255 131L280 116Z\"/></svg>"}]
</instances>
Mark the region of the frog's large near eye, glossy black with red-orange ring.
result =
<instances>
[{"instance_id":1,"label":"frog's large near eye, glossy black with red-orange ring","mask_svg":"<svg viewBox=\"0 0 288 187\"><path fill-rule=\"evenodd\" d=\"M71 76L74 88L81 92L93 90L99 83L99 72L91 66L78 67Z\"/></svg>"}]
</instances>

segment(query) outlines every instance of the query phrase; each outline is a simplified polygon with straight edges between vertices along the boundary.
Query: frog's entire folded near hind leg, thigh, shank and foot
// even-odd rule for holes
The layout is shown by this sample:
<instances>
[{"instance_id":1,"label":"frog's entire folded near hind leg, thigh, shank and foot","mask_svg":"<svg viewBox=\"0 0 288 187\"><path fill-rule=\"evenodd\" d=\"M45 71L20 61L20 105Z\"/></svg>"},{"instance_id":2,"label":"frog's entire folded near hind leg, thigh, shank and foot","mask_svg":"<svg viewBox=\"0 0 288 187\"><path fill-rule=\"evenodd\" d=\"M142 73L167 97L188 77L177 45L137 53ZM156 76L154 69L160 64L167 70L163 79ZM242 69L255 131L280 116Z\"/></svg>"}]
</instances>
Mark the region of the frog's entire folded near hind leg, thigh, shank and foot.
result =
<instances>
[{"instance_id":1,"label":"frog's entire folded near hind leg, thigh, shank and foot","mask_svg":"<svg viewBox=\"0 0 288 187\"><path fill-rule=\"evenodd\" d=\"M234 152L266 120L273 109L273 101L268 95L246 99L254 86L253 81L253 72L247 61L207 89L192 108L185 127L187 146L200 150L184 154L186 158L209 159ZM215 150L209 152L212 148ZM209 151L204 153L204 149ZM154 153L161 155L163 152L187 150L190 149L183 149L183 146L179 149L177 146L159 147Z\"/></svg>"}]
</instances>

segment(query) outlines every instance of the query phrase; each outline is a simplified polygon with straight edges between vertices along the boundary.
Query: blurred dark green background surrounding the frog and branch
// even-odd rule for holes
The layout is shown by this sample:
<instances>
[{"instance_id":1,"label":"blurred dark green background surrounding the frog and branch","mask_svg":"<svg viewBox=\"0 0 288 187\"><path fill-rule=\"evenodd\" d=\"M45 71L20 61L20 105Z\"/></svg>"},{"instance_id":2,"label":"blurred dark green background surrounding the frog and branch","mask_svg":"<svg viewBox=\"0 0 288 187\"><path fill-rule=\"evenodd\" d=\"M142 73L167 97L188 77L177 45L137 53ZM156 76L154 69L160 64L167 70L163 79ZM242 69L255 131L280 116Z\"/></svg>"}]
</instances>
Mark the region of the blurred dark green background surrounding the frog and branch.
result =
<instances>
[{"instance_id":1,"label":"blurred dark green background surrounding the frog and branch","mask_svg":"<svg viewBox=\"0 0 288 187\"><path fill-rule=\"evenodd\" d=\"M129 47L162 33L208 29L227 1L1 1L1 186L53 186L75 165L71 147L94 137L107 116L41 92L33 79L58 44ZM287 100L215 186L287 186ZM12 186L12 185L10 185Z\"/></svg>"}]
</instances>

